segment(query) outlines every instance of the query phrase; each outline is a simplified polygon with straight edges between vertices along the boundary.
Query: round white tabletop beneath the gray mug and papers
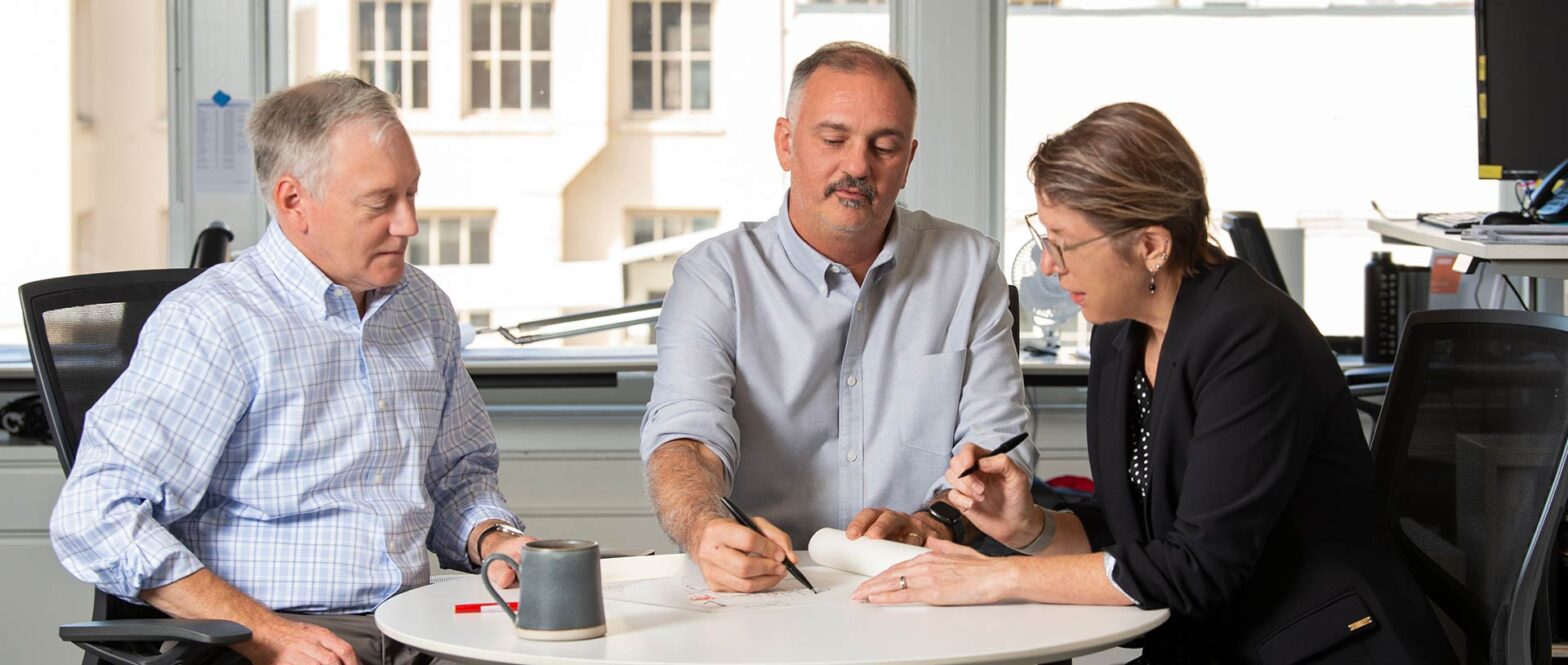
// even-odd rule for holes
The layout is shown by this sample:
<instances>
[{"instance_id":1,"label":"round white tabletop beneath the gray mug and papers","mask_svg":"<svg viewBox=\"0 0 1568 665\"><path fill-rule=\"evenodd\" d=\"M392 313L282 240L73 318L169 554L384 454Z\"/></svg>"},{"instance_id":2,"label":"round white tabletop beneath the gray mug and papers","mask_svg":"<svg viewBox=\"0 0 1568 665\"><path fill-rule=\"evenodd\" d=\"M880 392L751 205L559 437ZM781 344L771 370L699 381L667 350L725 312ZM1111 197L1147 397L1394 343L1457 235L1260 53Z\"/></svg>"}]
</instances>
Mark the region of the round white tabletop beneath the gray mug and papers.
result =
<instances>
[{"instance_id":1,"label":"round white tabletop beneath the gray mug and papers","mask_svg":"<svg viewBox=\"0 0 1568 665\"><path fill-rule=\"evenodd\" d=\"M801 563L809 558L801 552ZM610 558L604 580L676 576L685 566L684 554ZM1170 616L1135 607L859 602L710 615L607 599L608 635L528 641L503 613L452 613L458 602L488 599L477 576L448 577L383 604L376 626L405 645L480 663L1040 663L1121 645Z\"/></svg>"}]
</instances>

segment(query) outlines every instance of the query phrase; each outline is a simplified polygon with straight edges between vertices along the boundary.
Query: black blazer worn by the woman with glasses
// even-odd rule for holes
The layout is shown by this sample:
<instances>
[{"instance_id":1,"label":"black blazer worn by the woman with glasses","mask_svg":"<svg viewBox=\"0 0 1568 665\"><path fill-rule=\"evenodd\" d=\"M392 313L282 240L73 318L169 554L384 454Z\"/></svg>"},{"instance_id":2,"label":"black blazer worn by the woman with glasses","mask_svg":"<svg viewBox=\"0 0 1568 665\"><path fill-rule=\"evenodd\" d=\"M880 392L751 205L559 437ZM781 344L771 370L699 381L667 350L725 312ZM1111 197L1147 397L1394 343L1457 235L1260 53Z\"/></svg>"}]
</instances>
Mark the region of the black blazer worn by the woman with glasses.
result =
<instances>
[{"instance_id":1,"label":"black blazer worn by the woman with glasses","mask_svg":"<svg viewBox=\"0 0 1568 665\"><path fill-rule=\"evenodd\" d=\"M1454 662L1378 519L1359 417L1306 312L1237 260L1182 281L1154 376L1140 510L1127 442L1145 334L1134 322L1094 329L1094 505L1076 511L1094 549L1116 558L1116 585L1171 610L1146 654Z\"/></svg>"}]
</instances>

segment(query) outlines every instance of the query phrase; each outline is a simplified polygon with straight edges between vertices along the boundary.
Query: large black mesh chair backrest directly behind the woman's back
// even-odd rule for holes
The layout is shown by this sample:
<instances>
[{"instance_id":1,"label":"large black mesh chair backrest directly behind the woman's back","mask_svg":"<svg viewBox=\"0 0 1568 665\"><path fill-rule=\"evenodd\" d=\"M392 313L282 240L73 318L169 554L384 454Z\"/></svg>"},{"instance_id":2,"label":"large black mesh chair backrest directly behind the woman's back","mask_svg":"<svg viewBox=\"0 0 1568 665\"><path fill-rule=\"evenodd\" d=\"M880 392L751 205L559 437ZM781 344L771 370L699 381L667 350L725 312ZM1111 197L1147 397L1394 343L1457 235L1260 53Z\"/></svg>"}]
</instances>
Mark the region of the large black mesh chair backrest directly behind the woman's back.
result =
<instances>
[{"instance_id":1,"label":"large black mesh chair backrest directly behind the woman's back","mask_svg":"<svg viewBox=\"0 0 1568 665\"><path fill-rule=\"evenodd\" d=\"M1372 458L1388 527L1466 663L1544 663L1563 516L1568 318L1411 314Z\"/></svg>"}]
</instances>

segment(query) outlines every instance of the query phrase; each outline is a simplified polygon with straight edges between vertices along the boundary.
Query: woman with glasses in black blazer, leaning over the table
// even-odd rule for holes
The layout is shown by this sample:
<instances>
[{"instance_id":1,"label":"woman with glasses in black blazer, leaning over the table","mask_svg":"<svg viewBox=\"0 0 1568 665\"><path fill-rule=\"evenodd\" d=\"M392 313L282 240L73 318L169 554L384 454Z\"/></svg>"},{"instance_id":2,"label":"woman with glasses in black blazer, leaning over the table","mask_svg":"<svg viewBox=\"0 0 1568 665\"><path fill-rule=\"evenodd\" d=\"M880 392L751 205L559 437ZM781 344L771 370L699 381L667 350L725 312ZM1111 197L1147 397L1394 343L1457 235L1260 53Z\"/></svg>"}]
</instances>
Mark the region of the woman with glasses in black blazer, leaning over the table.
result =
<instances>
[{"instance_id":1,"label":"woman with glasses in black blazer, leaning over the table","mask_svg":"<svg viewBox=\"0 0 1568 665\"><path fill-rule=\"evenodd\" d=\"M1378 519L1344 375L1312 322L1207 232L1203 171L1154 108L1101 108L1030 163L1041 271L1096 323L1094 502L1035 507L1032 475L966 445L947 500L1033 557L935 543L870 602L1168 607L1140 662L1452 662ZM1035 215L1030 215L1035 216Z\"/></svg>"}]
</instances>

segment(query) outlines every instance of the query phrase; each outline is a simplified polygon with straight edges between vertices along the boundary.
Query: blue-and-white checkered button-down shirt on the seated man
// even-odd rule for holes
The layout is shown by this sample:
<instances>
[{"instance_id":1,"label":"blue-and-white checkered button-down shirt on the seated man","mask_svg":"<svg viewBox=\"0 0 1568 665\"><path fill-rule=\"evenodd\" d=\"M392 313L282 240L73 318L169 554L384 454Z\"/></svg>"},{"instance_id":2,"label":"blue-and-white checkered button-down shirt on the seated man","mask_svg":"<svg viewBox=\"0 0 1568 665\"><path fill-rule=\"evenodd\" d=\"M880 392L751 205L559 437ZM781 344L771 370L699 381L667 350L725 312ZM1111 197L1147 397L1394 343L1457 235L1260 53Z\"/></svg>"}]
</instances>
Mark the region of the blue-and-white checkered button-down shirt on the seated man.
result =
<instances>
[{"instance_id":1,"label":"blue-and-white checkered button-down shirt on the seated man","mask_svg":"<svg viewBox=\"0 0 1568 665\"><path fill-rule=\"evenodd\" d=\"M364 613L426 583L426 547L516 524L447 296L416 268L364 318L273 224L171 293L88 411L50 522L121 598L202 566L273 610Z\"/></svg>"}]
</instances>

